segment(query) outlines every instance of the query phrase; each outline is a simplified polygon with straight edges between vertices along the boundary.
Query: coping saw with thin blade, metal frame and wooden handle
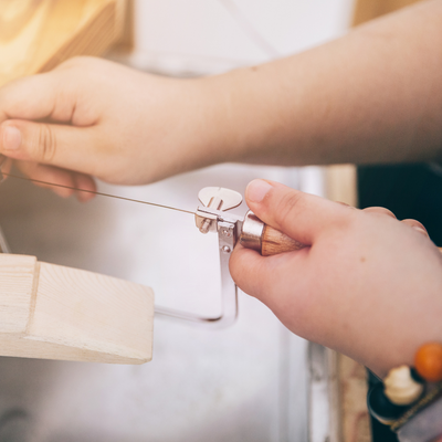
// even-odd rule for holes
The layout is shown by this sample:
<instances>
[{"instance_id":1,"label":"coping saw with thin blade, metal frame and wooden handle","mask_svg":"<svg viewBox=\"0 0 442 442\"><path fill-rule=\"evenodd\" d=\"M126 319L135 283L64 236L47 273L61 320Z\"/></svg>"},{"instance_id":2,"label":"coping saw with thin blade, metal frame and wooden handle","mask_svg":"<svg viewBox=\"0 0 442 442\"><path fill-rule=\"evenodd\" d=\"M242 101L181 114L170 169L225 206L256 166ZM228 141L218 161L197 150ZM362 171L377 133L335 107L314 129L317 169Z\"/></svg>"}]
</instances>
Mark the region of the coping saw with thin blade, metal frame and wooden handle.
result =
<instances>
[{"instance_id":1,"label":"coping saw with thin blade, metal frame and wooden handle","mask_svg":"<svg viewBox=\"0 0 442 442\"><path fill-rule=\"evenodd\" d=\"M0 168L3 159L4 157L0 156ZM176 210L194 215L196 225L201 233L206 234L208 232L213 232L218 234L222 313L215 317L203 317L187 312L158 306L155 308L155 313L176 319L197 323L203 326L206 325L217 328L227 327L232 325L238 316L238 287L233 282L229 271L229 259L238 242L240 242L240 244L244 248L257 251L263 256L298 250L304 246L284 233L264 224L252 211L248 211L243 218L234 213L227 212L230 209L234 209L241 204L242 196L234 190L225 188L207 187L201 189L198 193L198 198L202 206L198 207L196 211L190 211L155 202L135 200L110 193L103 193L98 191L78 189L70 186L30 179L2 171L0 179L4 179L4 177L23 179L45 186L67 188L71 190L93 193L102 197L123 199L126 201Z\"/></svg>"}]
</instances>

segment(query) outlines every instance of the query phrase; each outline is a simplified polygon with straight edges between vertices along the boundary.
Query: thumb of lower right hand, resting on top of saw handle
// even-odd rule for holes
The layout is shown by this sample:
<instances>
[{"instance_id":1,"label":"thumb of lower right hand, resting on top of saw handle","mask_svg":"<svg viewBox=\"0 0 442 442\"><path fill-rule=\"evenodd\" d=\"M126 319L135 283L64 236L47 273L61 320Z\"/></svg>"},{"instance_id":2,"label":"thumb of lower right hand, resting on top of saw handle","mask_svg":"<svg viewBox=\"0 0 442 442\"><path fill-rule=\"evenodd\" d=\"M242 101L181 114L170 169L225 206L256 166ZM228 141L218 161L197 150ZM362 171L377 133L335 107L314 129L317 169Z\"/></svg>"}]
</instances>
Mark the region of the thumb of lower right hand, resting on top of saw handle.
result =
<instances>
[{"instance_id":1,"label":"thumb of lower right hand, resting on top of saw handle","mask_svg":"<svg viewBox=\"0 0 442 442\"><path fill-rule=\"evenodd\" d=\"M261 179L249 183L245 200L263 222L306 245L348 215L339 203Z\"/></svg>"}]
</instances>

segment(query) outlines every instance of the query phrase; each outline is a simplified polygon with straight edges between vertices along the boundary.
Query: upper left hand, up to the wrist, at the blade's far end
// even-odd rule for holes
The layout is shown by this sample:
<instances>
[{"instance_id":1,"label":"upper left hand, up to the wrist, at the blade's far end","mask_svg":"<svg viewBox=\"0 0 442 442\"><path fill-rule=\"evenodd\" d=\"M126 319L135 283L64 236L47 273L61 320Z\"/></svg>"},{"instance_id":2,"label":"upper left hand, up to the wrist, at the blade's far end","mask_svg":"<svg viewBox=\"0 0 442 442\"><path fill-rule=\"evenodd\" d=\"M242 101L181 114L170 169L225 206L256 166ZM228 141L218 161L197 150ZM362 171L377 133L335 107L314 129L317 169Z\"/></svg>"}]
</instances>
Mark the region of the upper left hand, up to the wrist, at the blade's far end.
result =
<instances>
[{"instance_id":1,"label":"upper left hand, up to the wrist, at the blade's far end","mask_svg":"<svg viewBox=\"0 0 442 442\"><path fill-rule=\"evenodd\" d=\"M30 178L64 186L151 182L213 161L203 97L197 81L72 59L0 90L0 152Z\"/></svg>"}]
</instances>

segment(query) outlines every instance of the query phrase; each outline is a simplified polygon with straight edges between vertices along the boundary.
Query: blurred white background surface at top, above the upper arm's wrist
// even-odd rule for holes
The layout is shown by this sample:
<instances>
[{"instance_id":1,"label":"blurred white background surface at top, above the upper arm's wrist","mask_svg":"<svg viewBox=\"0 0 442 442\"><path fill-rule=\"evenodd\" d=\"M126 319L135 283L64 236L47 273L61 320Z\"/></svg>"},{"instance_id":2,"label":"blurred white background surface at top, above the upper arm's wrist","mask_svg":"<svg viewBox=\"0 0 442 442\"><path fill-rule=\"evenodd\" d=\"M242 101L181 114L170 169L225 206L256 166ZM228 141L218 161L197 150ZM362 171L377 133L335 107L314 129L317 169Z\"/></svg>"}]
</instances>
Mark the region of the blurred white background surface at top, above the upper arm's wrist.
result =
<instances>
[{"instance_id":1,"label":"blurred white background surface at top, above the upper arm's wrist","mask_svg":"<svg viewBox=\"0 0 442 442\"><path fill-rule=\"evenodd\" d=\"M204 74L314 46L348 28L352 0L137 0L134 64Z\"/></svg>"}]
</instances>

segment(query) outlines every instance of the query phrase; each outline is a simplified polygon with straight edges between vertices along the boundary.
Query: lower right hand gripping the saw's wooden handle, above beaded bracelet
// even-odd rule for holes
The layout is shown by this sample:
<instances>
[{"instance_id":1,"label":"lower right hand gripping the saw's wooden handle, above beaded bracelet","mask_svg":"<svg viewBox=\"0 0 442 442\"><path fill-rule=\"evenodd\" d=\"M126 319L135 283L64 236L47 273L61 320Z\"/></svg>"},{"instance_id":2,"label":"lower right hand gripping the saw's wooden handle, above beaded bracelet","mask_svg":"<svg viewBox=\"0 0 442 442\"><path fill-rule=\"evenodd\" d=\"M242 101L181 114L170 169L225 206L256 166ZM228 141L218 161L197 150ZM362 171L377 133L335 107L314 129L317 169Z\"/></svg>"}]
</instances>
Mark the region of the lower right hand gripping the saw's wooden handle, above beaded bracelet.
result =
<instances>
[{"instance_id":1,"label":"lower right hand gripping the saw's wooden handle, above beaded bracelet","mask_svg":"<svg viewBox=\"0 0 442 442\"><path fill-rule=\"evenodd\" d=\"M421 223L357 210L275 182L252 181L251 210L307 244L263 257L238 246L234 281L295 334L379 376L442 336L442 256Z\"/></svg>"}]
</instances>

